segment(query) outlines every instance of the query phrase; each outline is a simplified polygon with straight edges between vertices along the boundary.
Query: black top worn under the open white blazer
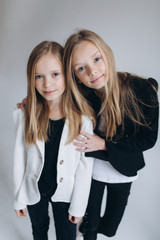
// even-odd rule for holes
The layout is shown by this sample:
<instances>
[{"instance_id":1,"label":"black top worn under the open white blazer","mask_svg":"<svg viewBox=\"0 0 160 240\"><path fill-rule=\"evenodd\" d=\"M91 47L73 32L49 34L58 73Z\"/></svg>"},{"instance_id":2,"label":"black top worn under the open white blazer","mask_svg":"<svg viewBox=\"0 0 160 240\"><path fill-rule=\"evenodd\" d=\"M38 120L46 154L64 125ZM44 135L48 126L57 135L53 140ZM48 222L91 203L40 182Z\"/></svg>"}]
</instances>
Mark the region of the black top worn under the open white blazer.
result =
<instances>
[{"instance_id":1,"label":"black top worn under the open white blazer","mask_svg":"<svg viewBox=\"0 0 160 240\"><path fill-rule=\"evenodd\" d=\"M57 157L64 119L49 120L48 138L45 143L44 167L38 181L39 191L52 196L57 187Z\"/></svg>"}]
</instances>

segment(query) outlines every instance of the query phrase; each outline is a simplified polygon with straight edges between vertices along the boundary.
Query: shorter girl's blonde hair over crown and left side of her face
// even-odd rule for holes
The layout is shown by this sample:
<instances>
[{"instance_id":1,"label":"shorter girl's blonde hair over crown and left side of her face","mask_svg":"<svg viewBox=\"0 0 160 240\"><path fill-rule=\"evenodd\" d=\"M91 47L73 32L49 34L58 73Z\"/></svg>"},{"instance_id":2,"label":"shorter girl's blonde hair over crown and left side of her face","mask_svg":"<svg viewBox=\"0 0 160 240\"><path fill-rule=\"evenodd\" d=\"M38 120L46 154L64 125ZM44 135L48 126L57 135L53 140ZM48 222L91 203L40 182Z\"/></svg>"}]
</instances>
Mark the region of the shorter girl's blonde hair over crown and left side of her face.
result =
<instances>
[{"instance_id":1,"label":"shorter girl's blonde hair over crown and left side of her face","mask_svg":"<svg viewBox=\"0 0 160 240\"><path fill-rule=\"evenodd\" d=\"M37 139L48 140L49 108L47 101L35 88L35 68L38 60L49 53L53 54L62 65L63 47L57 42L41 42L33 49L28 59L27 104L25 111L25 140L27 145L35 144Z\"/></svg>"}]
</instances>

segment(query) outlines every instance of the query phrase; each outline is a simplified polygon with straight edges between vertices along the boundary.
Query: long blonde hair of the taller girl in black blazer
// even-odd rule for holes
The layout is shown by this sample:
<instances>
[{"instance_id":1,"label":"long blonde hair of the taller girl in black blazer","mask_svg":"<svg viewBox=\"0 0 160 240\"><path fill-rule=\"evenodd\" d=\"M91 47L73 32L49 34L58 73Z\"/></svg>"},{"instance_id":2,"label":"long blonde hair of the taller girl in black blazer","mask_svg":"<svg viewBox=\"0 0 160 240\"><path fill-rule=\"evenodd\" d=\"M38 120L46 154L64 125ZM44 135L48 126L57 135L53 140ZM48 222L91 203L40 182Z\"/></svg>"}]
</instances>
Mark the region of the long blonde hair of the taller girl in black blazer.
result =
<instances>
[{"instance_id":1,"label":"long blonde hair of the taller girl in black blazer","mask_svg":"<svg viewBox=\"0 0 160 240\"><path fill-rule=\"evenodd\" d=\"M131 119L135 126L148 126L144 114L139 107L139 100L135 96L134 90L129 82L129 78L134 78L135 76L128 73L117 73L114 55L111 48L98 34L85 29L79 30L75 34L72 34L66 41L64 47L65 74L70 85L69 87L73 90L73 95L71 97L78 103L79 109L81 109L81 111L83 111L85 114L87 114L87 110L88 115L93 115L89 103L85 98L87 95L84 91L85 88L81 86L83 84L78 83L78 78L76 77L72 68L73 53L83 41L89 41L93 43L99 49L104 63L106 64L106 80L104 85L104 93L101 97L102 105L99 111L99 114L102 112L105 114L105 121L107 124L105 134L106 139L112 139L112 137L116 134L117 126L120 125L122 125L123 134L125 117ZM88 92L87 88L85 90ZM141 102L141 104L144 103Z\"/></svg>"}]
</instances>

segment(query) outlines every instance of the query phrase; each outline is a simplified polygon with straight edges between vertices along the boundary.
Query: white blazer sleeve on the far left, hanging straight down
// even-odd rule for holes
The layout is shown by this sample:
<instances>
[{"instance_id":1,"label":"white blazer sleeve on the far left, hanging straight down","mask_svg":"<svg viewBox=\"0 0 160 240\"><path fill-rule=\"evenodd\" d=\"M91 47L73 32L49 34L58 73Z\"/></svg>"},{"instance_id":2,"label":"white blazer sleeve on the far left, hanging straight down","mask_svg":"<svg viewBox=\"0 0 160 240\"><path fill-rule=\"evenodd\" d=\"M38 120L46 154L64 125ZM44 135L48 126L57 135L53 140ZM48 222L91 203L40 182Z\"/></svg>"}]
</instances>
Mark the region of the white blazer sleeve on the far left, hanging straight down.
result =
<instances>
[{"instance_id":1,"label":"white blazer sleeve on the far left, hanging straight down","mask_svg":"<svg viewBox=\"0 0 160 240\"><path fill-rule=\"evenodd\" d=\"M13 154L13 197L14 209L26 208L26 205L18 202L18 192L24 177L26 166L26 145L24 139L24 113L21 109L13 112L13 122L15 130L15 143Z\"/></svg>"}]
</instances>

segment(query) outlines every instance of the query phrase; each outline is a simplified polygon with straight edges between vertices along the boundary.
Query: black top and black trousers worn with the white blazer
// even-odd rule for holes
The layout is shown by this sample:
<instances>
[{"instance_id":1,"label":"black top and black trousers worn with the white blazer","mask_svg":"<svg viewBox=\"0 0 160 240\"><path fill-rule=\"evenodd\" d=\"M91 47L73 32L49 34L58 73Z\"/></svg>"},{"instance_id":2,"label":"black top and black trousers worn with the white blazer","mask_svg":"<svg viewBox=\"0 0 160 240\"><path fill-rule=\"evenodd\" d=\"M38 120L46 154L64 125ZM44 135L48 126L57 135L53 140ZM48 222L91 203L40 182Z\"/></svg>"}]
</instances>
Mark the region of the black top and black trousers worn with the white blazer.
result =
<instances>
[{"instance_id":1,"label":"black top and black trousers worn with the white blazer","mask_svg":"<svg viewBox=\"0 0 160 240\"><path fill-rule=\"evenodd\" d=\"M51 201L51 196L57 187L57 157L64 122L64 119L49 121L48 141L45 143L45 161L38 181L41 199L38 203L27 206L34 240L48 240L49 203L51 203L54 216L56 239L76 239L76 224L68 220L70 203Z\"/></svg>"}]
</instances>

